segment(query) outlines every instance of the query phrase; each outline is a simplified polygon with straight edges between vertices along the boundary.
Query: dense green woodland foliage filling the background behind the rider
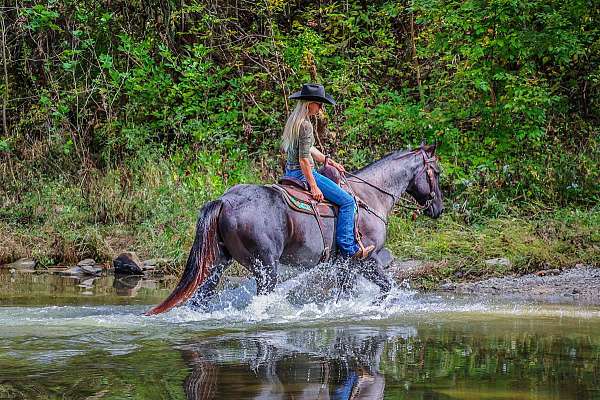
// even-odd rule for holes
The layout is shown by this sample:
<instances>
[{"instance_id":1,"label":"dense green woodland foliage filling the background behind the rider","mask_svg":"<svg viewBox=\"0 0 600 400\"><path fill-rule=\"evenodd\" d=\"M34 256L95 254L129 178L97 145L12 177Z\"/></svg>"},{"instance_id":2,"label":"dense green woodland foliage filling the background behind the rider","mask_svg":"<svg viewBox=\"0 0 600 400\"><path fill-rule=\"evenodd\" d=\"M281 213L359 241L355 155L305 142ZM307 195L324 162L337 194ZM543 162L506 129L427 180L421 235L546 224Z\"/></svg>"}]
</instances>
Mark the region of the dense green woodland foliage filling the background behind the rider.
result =
<instances>
[{"instance_id":1,"label":"dense green woodland foliage filling the background behind the rider","mask_svg":"<svg viewBox=\"0 0 600 400\"><path fill-rule=\"evenodd\" d=\"M29 199L56 187L90 223L149 226L176 212L161 190L201 192L178 206L195 209L272 179L286 97L313 66L339 103L324 150L355 168L440 141L447 208L463 222L600 201L592 2L15 4L3 14L7 223L52 220ZM144 179L159 175L161 200L145 202Z\"/></svg>"}]
</instances>

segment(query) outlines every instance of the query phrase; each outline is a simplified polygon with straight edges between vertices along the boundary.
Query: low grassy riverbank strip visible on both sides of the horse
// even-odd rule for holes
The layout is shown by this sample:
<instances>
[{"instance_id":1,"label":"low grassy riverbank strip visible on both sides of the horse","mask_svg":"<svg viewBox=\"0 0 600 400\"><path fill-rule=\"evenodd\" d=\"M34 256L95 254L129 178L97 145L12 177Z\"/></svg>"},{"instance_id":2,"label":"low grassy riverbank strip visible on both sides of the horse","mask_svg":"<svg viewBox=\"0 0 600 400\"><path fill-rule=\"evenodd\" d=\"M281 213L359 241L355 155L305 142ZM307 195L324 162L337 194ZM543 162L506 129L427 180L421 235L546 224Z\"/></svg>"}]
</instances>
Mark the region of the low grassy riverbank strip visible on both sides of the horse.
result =
<instances>
[{"instance_id":1,"label":"low grassy riverbank strip visible on both sides of the horse","mask_svg":"<svg viewBox=\"0 0 600 400\"><path fill-rule=\"evenodd\" d=\"M191 213L190 213L191 214ZM94 258L109 266L121 251L142 259L163 259L160 271L181 272L193 240L195 216L179 214L177 230L165 226L87 224L73 229L0 222L0 260L6 264L25 257L37 269L75 265ZM49 222L52 221L51 219ZM398 213L390 220L388 248L396 256L392 273L410 279L420 290L473 282L491 277L519 276L538 271L600 265L600 212L561 209L521 216L481 218L467 223L458 212L438 220ZM243 274L232 268L232 274Z\"/></svg>"}]
</instances>

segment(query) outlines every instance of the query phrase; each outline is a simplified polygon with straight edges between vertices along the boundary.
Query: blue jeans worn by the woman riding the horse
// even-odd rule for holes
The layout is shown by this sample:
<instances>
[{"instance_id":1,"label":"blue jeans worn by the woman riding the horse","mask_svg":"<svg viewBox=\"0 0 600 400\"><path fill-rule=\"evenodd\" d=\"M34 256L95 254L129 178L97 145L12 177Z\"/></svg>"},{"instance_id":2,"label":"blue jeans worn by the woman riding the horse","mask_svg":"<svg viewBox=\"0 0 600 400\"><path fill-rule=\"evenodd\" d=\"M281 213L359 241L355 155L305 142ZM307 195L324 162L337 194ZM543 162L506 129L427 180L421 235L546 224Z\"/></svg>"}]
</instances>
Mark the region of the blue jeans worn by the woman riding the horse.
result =
<instances>
[{"instance_id":1,"label":"blue jeans worn by the woman riding the horse","mask_svg":"<svg viewBox=\"0 0 600 400\"><path fill-rule=\"evenodd\" d=\"M335 243L343 256L352 256L358 250L358 243L354 237L354 213L356 212L356 203L352 196L339 187L331 179L319 174L313 169L313 176L317 186L323 192L323 197L339 206L337 224L335 226ZM306 178L301 170L285 170L286 176L300 179L306 182Z\"/></svg>"}]
</instances>

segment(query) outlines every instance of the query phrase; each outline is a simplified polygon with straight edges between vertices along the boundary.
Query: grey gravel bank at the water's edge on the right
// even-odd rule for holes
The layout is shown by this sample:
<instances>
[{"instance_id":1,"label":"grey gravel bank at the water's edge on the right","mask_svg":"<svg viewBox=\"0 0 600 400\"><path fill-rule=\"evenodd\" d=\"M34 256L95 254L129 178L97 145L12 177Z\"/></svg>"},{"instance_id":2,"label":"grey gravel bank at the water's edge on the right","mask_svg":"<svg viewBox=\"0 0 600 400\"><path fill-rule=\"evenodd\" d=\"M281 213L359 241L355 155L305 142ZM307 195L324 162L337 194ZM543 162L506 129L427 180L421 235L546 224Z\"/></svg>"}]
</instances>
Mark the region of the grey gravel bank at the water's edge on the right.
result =
<instances>
[{"instance_id":1,"label":"grey gravel bank at the water's edge on the right","mask_svg":"<svg viewBox=\"0 0 600 400\"><path fill-rule=\"evenodd\" d=\"M600 268L578 266L479 282L446 283L440 289L483 297L600 305Z\"/></svg>"}]
</instances>

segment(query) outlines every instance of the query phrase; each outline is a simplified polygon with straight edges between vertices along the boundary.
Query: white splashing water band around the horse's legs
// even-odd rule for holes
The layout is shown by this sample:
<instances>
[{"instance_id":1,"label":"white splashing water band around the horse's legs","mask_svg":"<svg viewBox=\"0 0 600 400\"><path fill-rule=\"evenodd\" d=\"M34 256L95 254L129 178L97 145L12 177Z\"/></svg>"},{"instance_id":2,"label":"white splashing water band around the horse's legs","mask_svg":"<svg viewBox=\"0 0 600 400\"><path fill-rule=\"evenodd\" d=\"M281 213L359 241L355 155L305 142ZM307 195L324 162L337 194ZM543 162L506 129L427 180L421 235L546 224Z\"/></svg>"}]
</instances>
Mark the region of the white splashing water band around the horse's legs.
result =
<instances>
[{"instance_id":1,"label":"white splashing water band around the horse's legs","mask_svg":"<svg viewBox=\"0 0 600 400\"><path fill-rule=\"evenodd\" d=\"M294 275L295 274L295 275ZM49 306L0 307L3 335L52 326L60 332L92 327L151 329L184 324L187 329L246 329L254 326L313 325L357 321L388 321L437 315L538 315L558 317L599 317L595 308L540 306L535 303L492 302L440 294L419 294L394 286L383 299L377 286L359 277L349 296L339 297L336 274L320 266L309 271L283 271L288 279L269 295L257 296L251 278L230 278L210 298L204 309L182 306L157 316L145 317L146 306ZM291 276L291 277L290 277ZM49 332L51 332L50 330Z\"/></svg>"}]
</instances>

